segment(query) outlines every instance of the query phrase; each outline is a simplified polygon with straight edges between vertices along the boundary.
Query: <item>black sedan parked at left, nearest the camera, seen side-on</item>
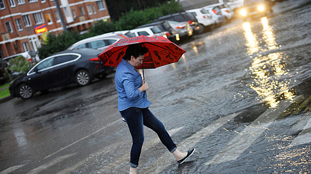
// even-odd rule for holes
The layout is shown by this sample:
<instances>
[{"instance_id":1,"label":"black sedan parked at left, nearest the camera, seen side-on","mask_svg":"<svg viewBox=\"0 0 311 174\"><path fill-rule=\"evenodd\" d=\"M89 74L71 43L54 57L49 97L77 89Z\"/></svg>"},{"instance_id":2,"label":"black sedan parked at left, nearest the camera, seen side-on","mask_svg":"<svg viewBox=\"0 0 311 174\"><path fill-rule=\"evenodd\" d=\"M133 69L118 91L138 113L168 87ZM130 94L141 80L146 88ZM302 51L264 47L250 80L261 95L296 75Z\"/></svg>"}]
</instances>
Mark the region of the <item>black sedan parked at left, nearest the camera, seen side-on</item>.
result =
<instances>
[{"instance_id":1,"label":"black sedan parked at left, nearest the camera, seen side-on","mask_svg":"<svg viewBox=\"0 0 311 174\"><path fill-rule=\"evenodd\" d=\"M37 63L27 74L15 78L9 85L11 96L30 98L36 91L71 83L85 86L94 78L104 78L113 68L96 66L99 50L81 48L53 54Z\"/></svg>"}]
</instances>

